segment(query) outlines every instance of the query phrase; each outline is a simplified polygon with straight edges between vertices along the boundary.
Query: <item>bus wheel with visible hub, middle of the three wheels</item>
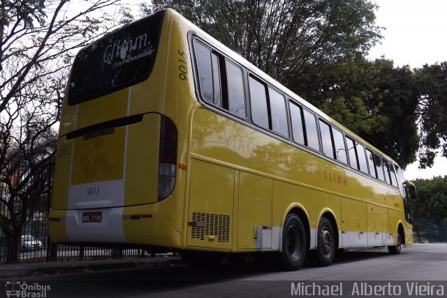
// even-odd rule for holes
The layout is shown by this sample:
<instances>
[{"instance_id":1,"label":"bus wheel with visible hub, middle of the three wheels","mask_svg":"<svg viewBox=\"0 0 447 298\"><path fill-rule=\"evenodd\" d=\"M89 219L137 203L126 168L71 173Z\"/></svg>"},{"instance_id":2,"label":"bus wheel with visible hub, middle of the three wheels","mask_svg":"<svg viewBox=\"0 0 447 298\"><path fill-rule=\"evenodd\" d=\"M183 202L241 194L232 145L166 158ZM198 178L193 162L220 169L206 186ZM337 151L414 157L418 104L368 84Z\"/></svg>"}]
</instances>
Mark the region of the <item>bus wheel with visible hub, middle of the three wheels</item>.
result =
<instances>
[{"instance_id":1,"label":"bus wheel with visible hub, middle of the three wheels","mask_svg":"<svg viewBox=\"0 0 447 298\"><path fill-rule=\"evenodd\" d=\"M335 236L334 229L328 218L321 218L318 225L316 244L316 257L318 264L329 266L332 264L335 256Z\"/></svg>"}]
</instances>

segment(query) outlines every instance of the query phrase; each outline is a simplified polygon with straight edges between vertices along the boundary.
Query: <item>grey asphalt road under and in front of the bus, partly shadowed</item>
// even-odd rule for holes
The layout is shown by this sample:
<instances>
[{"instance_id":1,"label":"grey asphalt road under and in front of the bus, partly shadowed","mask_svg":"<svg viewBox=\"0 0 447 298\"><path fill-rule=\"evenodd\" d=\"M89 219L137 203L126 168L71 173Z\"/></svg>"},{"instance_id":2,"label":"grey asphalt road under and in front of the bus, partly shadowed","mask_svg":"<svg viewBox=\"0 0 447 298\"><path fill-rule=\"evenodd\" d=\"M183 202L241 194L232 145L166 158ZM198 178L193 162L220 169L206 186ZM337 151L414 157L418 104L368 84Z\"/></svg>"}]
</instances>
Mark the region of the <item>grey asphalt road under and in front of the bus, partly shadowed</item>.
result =
<instances>
[{"instance_id":1,"label":"grey asphalt road under and in front of the bus, partly shadowed","mask_svg":"<svg viewBox=\"0 0 447 298\"><path fill-rule=\"evenodd\" d=\"M386 248L346 251L330 267L307 265L293 272L263 269L247 260L242 264L224 262L219 267L208 268L179 264L9 279L27 283L31 292L46 287L45 292L40 290L45 297L182 298L290 297L293 293L312 297L318 294L318 287L320 291L332 287L333 292L329 292L332 297L361 297L361 294L365 297L446 297L446 280L447 244L406 246L400 255L389 255ZM307 288L310 292L302 288L305 285L313 286ZM374 285L379 285L376 289L383 292L375 295L361 292L362 289L371 290ZM358 288L353 290L353 287ZM337 288L342 288L343 292L337 292ZM429 295L425 295L424 290L428 290ZM319 293L323 297L327 292ZM0 290L0 297L4 294Z\"/></svg>"}]
</instances>

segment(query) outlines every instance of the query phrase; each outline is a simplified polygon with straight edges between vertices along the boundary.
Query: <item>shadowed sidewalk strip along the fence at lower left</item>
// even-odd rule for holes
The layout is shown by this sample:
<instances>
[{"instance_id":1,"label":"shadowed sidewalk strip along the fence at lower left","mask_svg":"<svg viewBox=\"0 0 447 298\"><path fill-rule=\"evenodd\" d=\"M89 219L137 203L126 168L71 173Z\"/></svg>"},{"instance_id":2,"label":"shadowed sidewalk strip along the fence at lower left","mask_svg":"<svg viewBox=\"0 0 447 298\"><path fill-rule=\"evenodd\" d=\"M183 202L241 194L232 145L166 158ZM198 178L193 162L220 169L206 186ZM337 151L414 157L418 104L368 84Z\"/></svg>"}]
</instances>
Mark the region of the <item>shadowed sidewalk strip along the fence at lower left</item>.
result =
<instances>
[{"instance_id":1,"label":"shadowed sidewalk strip along the fence at lower left","mask_svg":"<svg viewBox=\"0 0 447 298\"><path fill-rule=\"evenodd\" d=\"M182 264L179 256L156 256L144 258L123 258L113 260L85 260L66 262L20 262L0 264L0 278L43 274L67 274L85 271L110 269L164 267L170 264Z\"/></svg>"}]
</instances>

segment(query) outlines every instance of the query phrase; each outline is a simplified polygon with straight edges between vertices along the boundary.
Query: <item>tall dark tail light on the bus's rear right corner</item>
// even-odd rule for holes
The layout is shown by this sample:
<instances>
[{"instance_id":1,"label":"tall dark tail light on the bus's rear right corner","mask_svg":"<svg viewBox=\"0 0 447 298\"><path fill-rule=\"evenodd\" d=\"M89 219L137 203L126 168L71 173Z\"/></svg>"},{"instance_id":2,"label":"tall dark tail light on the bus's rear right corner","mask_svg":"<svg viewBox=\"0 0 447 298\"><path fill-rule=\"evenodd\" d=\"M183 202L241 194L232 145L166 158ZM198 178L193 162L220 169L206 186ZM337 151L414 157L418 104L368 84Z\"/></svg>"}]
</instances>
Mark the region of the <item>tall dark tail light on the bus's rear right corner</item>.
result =
<instances>
[{"instance_id":1,"label":"tall dark tail light on the bus's rear right corner","mask_svg":"<svg viewBox=\"0 0 447 298\"><path fill-rule=\"evenodd\" d=\"M177 129L174 123L161 116L159 155L159 200L173 192L177 168Z\"/></svg>"}]
</instances>

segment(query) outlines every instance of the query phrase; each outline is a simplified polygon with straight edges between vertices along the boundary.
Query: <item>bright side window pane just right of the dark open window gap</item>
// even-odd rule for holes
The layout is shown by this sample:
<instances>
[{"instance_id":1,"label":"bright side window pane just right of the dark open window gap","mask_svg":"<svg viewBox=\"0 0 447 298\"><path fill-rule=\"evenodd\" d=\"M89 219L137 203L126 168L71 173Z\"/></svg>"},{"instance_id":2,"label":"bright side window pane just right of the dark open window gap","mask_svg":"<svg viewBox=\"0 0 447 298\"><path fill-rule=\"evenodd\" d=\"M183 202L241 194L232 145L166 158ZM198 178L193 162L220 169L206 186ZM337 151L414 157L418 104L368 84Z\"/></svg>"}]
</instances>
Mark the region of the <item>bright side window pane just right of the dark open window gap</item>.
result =
<instances>
[{"instance_id":1,"label":"bright side window pane just right of the dark open window gap","mask_svg":"<svg viewBox=\"0 0 447 298\"><path fill-rule=\"evenodd\" d=\"M226 76L228 80L228 111L245 117L244 79L242 69L226 61Z\"/></svg>"}]
</instances>

